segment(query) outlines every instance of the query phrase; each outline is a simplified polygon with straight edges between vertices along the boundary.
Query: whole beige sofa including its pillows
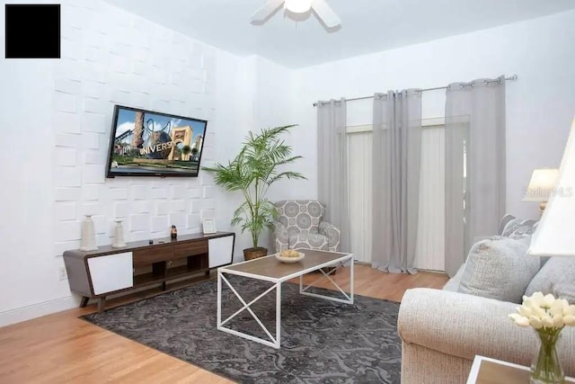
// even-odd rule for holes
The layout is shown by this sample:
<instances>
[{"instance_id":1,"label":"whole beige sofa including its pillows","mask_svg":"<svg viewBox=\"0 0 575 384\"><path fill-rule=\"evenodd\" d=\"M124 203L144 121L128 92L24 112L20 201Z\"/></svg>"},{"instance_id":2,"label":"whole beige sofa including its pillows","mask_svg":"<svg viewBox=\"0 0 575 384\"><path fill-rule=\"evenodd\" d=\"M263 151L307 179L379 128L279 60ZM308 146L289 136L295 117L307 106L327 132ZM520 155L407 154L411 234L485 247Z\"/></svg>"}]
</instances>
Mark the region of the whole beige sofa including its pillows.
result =
<instances>
[{"instance_id":1,"label":"whole beige sofa including its pillows","mask_svg":"<svg viewBox=\"0 0 575 384\"><path fill-rule=\"evenodd\" d=\"M521 297L543 291L575 304L575 259L534 263L525 255L535 227L534 220L508 215L501 221L501 236L478 241L443 290L405 292L397 324L403 384L464 383L475 355L531 364L539 345L535 330L509 319ZM575 377L575 326L563 328L557 349L563 370Z\"/></svg>"}]
</instances>

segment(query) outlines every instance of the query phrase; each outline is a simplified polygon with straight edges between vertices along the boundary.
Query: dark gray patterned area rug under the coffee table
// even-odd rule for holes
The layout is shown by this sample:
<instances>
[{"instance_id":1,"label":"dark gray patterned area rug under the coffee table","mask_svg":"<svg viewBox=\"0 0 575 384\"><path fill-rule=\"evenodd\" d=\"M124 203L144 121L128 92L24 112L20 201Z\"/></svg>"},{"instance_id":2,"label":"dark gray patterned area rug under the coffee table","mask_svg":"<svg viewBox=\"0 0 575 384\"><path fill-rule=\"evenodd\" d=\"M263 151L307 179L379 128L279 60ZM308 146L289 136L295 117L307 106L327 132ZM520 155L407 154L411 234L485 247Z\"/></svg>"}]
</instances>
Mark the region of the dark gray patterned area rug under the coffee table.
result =
<instances>
[{"instance_id":1,"label":"dark gray patterned area rug under the coffee table","mask_svg":"<svg viewBox=\"0 0 575 384\"><path fill-rule=\"evenodd\" d=\"M241 277L230 281L244 299L247 296L246 302L270 287ZM242 307L231 290L226 287L224 292L222 319ZM274 298L275 290L252 306L272 335ZM217 281L83 318L241 383L399 383L398 310L399 303L364 296L356 295L354 305L307 297L296 284L284 283L279 350L217 330ZM265 337L245 310L229 325Z\"/></svg>"}]
</instances>

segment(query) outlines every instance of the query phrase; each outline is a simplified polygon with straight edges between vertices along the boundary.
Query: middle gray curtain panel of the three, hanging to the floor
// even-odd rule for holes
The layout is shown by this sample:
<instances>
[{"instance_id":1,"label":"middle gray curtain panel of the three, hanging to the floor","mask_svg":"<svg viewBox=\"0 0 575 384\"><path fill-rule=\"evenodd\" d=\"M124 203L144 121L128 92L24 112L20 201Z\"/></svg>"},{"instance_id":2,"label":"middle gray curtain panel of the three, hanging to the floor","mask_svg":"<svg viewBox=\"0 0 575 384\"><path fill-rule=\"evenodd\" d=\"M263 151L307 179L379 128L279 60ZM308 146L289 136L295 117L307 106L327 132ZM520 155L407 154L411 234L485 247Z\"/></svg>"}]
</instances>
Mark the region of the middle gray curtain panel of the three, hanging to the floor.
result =
<instances>
[{"instance_id":1,"label":"middle gray curtain panel of the three, hanging to the floor","mask_svg":"<svg viewBox=\"0 0 575 384\"><path fill-rule=\"evenodd\" d=\"M376 94L372 266L415 273L420 201L421 93Z\"/></svg>"}]
</instances>

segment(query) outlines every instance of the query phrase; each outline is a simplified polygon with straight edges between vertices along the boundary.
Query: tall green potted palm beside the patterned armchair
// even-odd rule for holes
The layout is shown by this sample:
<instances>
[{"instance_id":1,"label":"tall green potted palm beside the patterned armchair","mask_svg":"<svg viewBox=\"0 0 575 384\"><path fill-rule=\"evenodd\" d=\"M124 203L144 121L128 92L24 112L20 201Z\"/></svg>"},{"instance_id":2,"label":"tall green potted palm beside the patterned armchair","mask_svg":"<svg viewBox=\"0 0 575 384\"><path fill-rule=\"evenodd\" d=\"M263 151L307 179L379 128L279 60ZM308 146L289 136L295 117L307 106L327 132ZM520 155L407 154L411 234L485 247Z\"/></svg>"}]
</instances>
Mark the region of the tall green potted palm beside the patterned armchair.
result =
<instances>
[{"instance_id":1,"label":"tall green potted palm beside the patterned armchair","mask_svg":"<svg viewBox=\"0 0 575 384\"><path fill-rule=\"evenodd\" d=\"M229 192L243 193L242 204L234 211L232 225L252 234L252 247L243 250L245 260L265 256L268 250L258 241L264 228L272 228L278 211L266 194L271 184L282 179L305 179L303 174L286 171L283 165L301 156L292 156L292 148L281 136L295 125L261 129L258 134L248 132L243 147L227 165L204 166L214 174L217 185Z\"/></svg>"}]
</instances>

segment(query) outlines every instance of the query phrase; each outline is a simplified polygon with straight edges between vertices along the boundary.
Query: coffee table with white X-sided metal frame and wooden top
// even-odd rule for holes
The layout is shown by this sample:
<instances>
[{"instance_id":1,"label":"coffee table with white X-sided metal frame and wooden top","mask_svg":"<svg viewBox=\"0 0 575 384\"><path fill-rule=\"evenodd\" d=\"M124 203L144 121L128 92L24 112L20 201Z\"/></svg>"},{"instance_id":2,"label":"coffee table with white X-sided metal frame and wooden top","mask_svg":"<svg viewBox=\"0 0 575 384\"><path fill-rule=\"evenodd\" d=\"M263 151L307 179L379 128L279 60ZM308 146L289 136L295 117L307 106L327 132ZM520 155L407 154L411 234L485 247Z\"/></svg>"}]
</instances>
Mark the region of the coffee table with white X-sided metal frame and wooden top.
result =
<instances>
[{"instance_id":1,"label":"coffee table with white X-sided metal frame and wooden top","mask_svg":"<svg viewBox=\"0 0 575 384\"><path fill-rule=\"evenodd\" d=\"M275 255L269 255L261 257L259 259L250 260L243 263L236 263L232 265L227 265L219 267L217 269L217 329L220 331L227 332L228 334L240 336L254 342L269 345L274 348L279 348L280 346L280 329L281 329L281 283L299 277L299 293L307 296L314 296L316 298L328 299L332 301L338 301L347 304L353 304L353 254L344 254L339 252L326 252L326 251L314 251L311 249L297 249L299 252L305 254L305 258L297 263L281 263L276 259ZM339 267L345 263L349 263L349 293L342 290L340 285L332 280L332 273L335 272ZM324 267L337 266L329 272L323 270ZM322 275L314 282L309 285L304 286L303 276L305 273L322 272ZM252 299L250 302L246 302L242 298L241 287L234 287L232 283L227 279L227 275L238 275L247 277L250 279L270 281L273 285L265 290L261 295ZM318 281L327 279L332 281L332 284L337 290L341 292L342 299L333 298L330 296L324 296L317 293L308 292L309 288L313 287ZM234 312L233 315L227 317L222 321L222 282L226 283L226 286L234 292L234 295L243 304L243 307ZM236 289L237 288L237 289ZM239 291L238 291L239 290ZM272 335L270 330L263 325L260 318L253 313L252 308L250 308L255 302L266 296L268 293L276 290L276 332ZM226 326L226 324L243 312L247 310L255 321L261 326L261 329L268 335L269 340L256 337L254 335L248 335L243 332L231 329Z\"/></svg>"}]
</instances>

